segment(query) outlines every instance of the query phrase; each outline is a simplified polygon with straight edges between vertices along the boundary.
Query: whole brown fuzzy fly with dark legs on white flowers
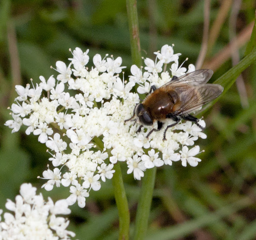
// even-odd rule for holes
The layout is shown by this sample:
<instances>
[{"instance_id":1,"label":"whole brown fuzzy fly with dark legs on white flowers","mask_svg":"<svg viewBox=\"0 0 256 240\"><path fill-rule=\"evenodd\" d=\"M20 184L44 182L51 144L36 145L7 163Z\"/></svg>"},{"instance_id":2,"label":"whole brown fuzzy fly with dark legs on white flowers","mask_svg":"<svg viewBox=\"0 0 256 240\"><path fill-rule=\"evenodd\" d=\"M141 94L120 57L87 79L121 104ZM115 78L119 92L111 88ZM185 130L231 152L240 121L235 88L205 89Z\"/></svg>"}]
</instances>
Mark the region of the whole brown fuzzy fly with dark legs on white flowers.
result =
<instances>
[{"instance_id":1,"label":"whole brown fuzzy fly with dark legs on white flowers","mask_svg":"<svg viewBox=\"0 0 256 240\"><path fill-rule=\"evenodd\" d=\"M212 77L211 69L200 69L181 77L173 77L172 80L160 88L155 85L150 87L150 92L142 103L138 103L133 111L131 118L125 122L139 119L141 125L136 131L140 132L142 126L151 126L157 121L157 129L152 129L146 138L154 131L160 131L165 119L172 119L175 122L168 125L164 130L166 140L166 131L175 126L182 119L196 123L198 127L204 130L198 121L199 119L190 115L190 113L204 104L209 103L218 97L223 87L218 84L209 84L208 80Z\"/></svg>"}]
</instances>

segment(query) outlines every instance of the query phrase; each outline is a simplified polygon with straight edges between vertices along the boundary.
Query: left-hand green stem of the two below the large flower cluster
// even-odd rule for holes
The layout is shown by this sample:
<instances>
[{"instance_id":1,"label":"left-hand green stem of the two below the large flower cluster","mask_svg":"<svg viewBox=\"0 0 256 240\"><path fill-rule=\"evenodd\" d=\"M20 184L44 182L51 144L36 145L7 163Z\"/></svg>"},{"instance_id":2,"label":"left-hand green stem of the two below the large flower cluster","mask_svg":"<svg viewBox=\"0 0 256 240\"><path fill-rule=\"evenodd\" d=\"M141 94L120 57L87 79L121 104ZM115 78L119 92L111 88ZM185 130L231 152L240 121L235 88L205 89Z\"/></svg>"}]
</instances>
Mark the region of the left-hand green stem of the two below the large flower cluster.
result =
<instances>
[{"instance_id":1,"label":"left-hand green stem of the two below the large flower cluster","mask_svg":"<svg viewBox=\"0 0 256 240\"><path fill-rule=\"evenodd\" d=\"M122 173L120 164L114 165L115 173L112 178L112 184L114 186L114 193L116 199L116 205L119 216L119 240L129 239L130 228L130 212L128 208L128 201L124 190L124 182L122 179Z\"/></svg>"}]
</instances>

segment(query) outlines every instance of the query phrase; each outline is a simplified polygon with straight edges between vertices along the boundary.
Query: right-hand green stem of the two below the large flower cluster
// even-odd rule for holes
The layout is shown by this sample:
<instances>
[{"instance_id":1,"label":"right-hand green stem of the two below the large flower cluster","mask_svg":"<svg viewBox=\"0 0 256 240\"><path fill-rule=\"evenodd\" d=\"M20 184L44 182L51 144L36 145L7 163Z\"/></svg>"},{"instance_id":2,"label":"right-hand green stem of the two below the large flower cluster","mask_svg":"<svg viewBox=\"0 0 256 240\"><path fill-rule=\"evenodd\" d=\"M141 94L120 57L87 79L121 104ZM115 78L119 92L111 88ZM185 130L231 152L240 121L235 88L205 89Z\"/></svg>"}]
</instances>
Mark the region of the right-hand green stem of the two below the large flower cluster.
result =
<instances>
[{"instance_id":1,"label":"right-hand green stem of the two below the large flower cluster","mask_svg":"<svg viewBox=\"0 0 256 240\"><path fill-rule=\"evenodd\" d=\"M147 169L142 180L142 189L136 214L134 240L143 240L148 228L148 217L150 213L155 178L156 167Z\"/></svg>"}]
</instances>

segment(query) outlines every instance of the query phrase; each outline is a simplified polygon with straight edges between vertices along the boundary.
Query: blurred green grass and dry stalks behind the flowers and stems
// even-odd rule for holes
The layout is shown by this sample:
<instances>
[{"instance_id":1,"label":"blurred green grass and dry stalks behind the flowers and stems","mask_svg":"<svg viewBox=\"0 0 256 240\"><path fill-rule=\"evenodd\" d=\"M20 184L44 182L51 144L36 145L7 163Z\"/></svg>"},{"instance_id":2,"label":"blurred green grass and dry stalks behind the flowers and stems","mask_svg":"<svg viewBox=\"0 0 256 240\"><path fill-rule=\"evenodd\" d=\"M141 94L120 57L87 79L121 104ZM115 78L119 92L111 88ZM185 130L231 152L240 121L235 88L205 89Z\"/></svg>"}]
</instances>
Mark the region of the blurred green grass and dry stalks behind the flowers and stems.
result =
<instances>
[{"instance_id":1,"label":"blurred green grass and dry stalks behind the flowers and stems","mask_svg":"<svg viewBox=\"0 0 256 240\"><path fill-rule=\"evenodd\" d=\"M207 4L207 2L206 2ZM204 33L205 2L202 0L138 0L142 56L152 58L164 44L174 44L182 53L180 63L196 64ZM204 42L200 68L211 68L215 81L244 56L255 17L253 0L212 0L209 37ZM236 36L236 40L234 37ZM237 42L237 47L234 45ZM121 56L130 75L130 37L126 2L120 0L1 0L0 1L0 208L6 198L14 200L20 184L32 182L46 170L49 155L37 136L27 136L22 128L11 134L4 126L10 106L17 96L14 86L46 79L58 60L67 62L69 48L90 49ZM201 52L202 53L202 52ZM202 55L201 55L202 56ZM219 101L204 113L207 139L196 145L197 167L161 167L146 239L218 240L256 239L256 65L246 69ZM200 117L200 115L198 116ZM140 181L127 175L124 182L133 225L140 193ZM69 196L68 188L42 190L54 201ZM69 230L80 240L118 238L118 213L112 183L91 192L86 207L76 204ZM132 227L131 225L131 227ZM97 231L95 230L97 229Z\"/></svg>"}]
</instances>

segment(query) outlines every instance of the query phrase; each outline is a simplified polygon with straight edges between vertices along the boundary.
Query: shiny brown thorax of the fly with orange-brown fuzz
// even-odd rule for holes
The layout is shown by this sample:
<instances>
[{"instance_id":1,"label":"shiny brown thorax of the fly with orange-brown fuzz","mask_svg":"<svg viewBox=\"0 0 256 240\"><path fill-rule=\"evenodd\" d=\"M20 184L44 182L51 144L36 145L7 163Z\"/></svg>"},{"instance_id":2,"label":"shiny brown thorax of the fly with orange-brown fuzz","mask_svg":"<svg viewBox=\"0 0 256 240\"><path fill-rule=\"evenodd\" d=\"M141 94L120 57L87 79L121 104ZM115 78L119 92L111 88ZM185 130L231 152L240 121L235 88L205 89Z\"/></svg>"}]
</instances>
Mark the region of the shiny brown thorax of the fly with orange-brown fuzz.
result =
<instances>
[{"instance_id":1,"label":"shiny brown thorax of the fly with orange-brown fuzz","mask_svg":"<svg viewBox=\"0 0 256 240\"><path fill-rule=\"evenodd\" d=\"M172 97L175 95L174 97ZM153 93L148 95L146 99L142 102L142 105L149 113L151 119L161 120L166 119L168 113L172 113L174 109L178 108L180 101L178 96L174 91L163 91L162 89L156 89ZM175 103L175 104L174 104Z\"/></svg>"}]
</instances>

